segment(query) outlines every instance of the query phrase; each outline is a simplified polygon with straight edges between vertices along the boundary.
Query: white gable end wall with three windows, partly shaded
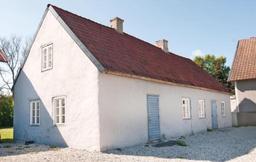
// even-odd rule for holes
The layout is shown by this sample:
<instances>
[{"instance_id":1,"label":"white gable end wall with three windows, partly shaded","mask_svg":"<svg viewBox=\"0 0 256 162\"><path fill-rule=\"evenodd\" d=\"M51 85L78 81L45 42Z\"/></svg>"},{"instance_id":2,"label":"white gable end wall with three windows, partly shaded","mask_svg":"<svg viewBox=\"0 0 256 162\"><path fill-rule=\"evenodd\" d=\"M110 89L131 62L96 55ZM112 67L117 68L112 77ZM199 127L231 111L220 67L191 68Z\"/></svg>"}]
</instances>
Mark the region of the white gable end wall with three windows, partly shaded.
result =
<instances>
[{"instance_id":1,"label":"white gable end wall with three windows, partly shaded","mask_svg":"<svg viewBox=\"0 0 256 162\"><path fill-rule=\"evenodd\" d=\"M53 69L41 72L41 46L53 43ZM98 69L48 11L14 88L14 139L99 150ZM53 126L52 98L67 96L66 126ZM30 100L40 99L40 126Z\"/></svg>"}]
</instances>

